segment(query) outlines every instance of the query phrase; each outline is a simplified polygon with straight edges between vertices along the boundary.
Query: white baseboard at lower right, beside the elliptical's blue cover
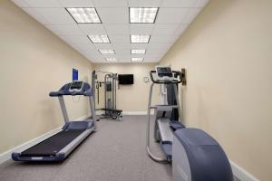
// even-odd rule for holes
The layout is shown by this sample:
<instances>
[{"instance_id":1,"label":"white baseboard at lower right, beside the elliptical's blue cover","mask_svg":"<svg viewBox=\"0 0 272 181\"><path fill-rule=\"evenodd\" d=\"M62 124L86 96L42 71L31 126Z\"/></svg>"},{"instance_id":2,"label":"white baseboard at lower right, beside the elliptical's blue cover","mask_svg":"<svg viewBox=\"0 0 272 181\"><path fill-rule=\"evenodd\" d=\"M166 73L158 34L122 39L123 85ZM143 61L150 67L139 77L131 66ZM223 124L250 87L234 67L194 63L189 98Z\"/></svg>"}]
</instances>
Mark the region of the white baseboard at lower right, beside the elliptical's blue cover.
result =
<instances>
[{"instance_id":1,"label":"white baseboard at lower right, beside the elliptical's blue cover","mask_svg":"<svg viewBox=\"0 0 272 181\"><path fill-rule=\"evenodd\" d=\"M229 160L230 166L232 168L233 175L236 176L241 181L259 181L255 176L249 174L244 168L239 167L236 163Z\"/></svg>"}]
</instances>

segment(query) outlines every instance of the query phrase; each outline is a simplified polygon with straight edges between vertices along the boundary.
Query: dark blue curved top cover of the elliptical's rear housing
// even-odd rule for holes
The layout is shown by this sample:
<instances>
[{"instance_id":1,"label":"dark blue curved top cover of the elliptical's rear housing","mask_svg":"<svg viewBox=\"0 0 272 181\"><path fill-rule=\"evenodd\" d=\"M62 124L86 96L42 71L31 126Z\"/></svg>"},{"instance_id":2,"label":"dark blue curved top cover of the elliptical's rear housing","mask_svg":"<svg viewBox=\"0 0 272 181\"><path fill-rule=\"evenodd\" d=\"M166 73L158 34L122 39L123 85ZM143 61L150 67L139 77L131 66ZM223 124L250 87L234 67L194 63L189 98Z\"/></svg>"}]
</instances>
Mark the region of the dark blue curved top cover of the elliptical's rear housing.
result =
<instances>
[{"instance_id":1,"label":"dark blue curved top cover of the elliptical's rear housing","mask_svg":"<svg viewBox=\"0 0 272 181\"><path fill-rule=\"evenodd\" d=\"M201 129L174 132L186 151L191 181L233 181L228 157L219 143Z\"/></svg>"}]
</instances>

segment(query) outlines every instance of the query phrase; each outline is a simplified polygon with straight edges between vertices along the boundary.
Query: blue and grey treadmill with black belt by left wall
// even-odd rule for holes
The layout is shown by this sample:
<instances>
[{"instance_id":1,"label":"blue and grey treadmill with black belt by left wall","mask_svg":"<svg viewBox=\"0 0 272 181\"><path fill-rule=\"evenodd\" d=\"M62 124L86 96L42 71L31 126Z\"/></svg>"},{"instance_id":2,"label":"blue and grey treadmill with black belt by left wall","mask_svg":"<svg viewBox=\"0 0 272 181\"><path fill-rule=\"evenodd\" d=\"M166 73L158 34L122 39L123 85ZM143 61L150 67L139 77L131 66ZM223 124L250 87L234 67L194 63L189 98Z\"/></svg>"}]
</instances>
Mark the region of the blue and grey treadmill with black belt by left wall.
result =
<instances>
[{"instance_id":1,"label":"blue and grey treadmill with black belt by left wall","mask_svg":"<svg viewBox=\"0 0 272 181\"><path fill-rule=\"evenodd\" d=\"M80 121L69 120L63 96L85 96L89 98L92 119ZM15 161L61 161L65 159L79 144L96 129L93 91L89 83L73 81L63 85L58 91L50 92L49 96L59 99L63 112L64 125L61 130L50 138L25 150L12 153Z\"/></svg>"}]
</instances>

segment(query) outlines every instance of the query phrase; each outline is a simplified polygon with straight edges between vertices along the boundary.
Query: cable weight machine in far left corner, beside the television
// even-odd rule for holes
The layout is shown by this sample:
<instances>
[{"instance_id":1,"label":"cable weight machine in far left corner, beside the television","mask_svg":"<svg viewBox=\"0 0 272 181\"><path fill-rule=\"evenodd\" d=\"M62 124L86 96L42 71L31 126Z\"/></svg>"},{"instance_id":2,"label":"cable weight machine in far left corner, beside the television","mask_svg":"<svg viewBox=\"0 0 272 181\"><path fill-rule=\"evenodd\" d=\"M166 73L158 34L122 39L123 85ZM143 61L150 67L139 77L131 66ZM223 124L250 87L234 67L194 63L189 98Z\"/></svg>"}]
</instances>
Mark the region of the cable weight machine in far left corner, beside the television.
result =
<instances>
[{"instance_id":1,"label":"cable weight machine in far left corner, beside the television","mask_svg":"<svg viewBox=\"0 0 272 181\"><path fill-rule=\"evenodd\" d=\"M98 81L97 72L104 74L104 81ZM102 84L104 85L104 103L105 108L95 109L103 110L104 114L100 119L118 119L122 118L122 110L116 109L116 81L118 80L117 73L108 71L92 71L92 87L95 87L97 94L94 92L94 102L97 98L97 104L100 103L99 93ZM97 95L97 96L96 96Z\"/></svg>"}]
</instances>

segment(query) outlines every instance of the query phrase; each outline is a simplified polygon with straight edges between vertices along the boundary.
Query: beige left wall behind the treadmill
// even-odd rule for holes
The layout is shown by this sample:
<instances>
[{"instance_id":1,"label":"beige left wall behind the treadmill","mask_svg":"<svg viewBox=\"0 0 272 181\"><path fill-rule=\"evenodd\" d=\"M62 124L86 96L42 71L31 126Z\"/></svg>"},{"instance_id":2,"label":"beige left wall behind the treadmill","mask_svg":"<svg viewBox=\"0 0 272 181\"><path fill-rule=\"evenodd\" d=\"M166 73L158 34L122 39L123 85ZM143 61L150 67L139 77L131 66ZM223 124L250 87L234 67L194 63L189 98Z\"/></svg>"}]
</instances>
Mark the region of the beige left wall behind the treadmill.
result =
<instances>
[{"instance_id":1,"label":"beige left wall behind the treadmill","mask_svg":"<svg viewBox=\"0 0 272 181\"><path fill-rule=\"evenodd\" d=\"M2 153L63 125L58 100L48 93L71 81L72 68L91 81L92 63L7 0L0 1L0 40ZM89 113L83 98L67 100L72 119Z\"/></svg>"}]
</instances>

